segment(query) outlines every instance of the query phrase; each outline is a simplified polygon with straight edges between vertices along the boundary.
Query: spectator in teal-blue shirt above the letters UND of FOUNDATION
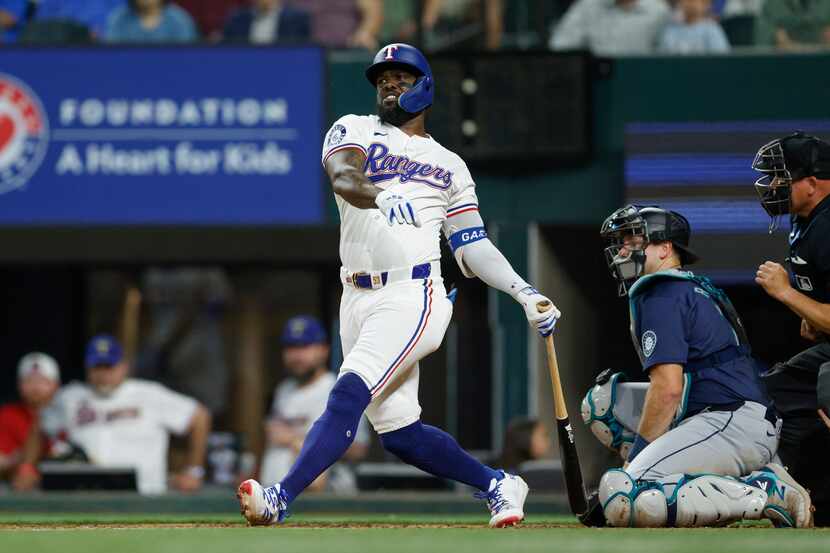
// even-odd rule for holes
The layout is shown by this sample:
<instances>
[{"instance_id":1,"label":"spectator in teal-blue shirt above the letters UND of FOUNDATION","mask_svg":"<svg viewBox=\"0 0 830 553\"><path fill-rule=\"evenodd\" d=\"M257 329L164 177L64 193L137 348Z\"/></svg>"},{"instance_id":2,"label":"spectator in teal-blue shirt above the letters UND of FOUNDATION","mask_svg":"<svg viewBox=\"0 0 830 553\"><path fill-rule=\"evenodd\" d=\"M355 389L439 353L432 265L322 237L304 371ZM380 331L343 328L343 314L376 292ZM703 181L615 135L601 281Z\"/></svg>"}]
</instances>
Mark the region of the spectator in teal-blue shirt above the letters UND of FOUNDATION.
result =
<instances>
[{"instance_id":1,"label":"spectator in teal-blue shirt above the letters UND of FOUNDATION","mask_svg":"<svg viewBox=\"0 0 830 553\"><path fill-rule=\"evenodd\" d=\"M194 42L196 25L186 11L165 0L128 0L107 20L107 42Z\"/></svg>"}]
</instances>

